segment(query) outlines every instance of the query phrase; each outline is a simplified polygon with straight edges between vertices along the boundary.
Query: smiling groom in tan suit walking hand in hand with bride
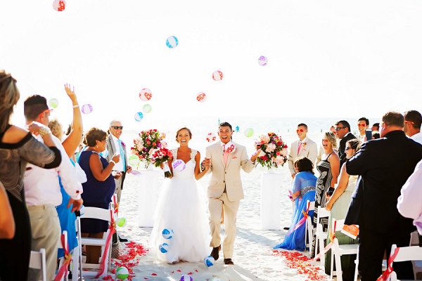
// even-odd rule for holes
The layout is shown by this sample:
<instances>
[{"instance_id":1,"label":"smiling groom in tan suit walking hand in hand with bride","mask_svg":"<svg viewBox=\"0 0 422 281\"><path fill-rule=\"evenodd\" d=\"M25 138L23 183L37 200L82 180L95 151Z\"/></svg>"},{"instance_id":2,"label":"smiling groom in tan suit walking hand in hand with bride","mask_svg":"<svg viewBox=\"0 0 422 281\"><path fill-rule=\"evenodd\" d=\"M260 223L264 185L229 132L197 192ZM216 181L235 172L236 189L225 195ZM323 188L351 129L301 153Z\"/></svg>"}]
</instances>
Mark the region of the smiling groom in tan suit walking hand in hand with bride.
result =
<instances>
[{"instance_id":1,"label":"smiling groom in tan suit walking hand in hand with bride","mask_svg":"<svg viewBox=\"0 0 422 281\"><path fill-rule=\"evenodd\" d=\"M224 221L225 237L223 242L224 263L234 264L234 238L236 237L236 215L243 197L241 168L250 173L255 167L259 152L248 158L246 148L231 141L233 130L227 122L219 124L220 141L206 148L205 160L201 169L212 173L207 189L208 208L210 209L210 229L212 240L211 256L217 261L221 247L221 226Z\"/></svg>"}]
</instances>

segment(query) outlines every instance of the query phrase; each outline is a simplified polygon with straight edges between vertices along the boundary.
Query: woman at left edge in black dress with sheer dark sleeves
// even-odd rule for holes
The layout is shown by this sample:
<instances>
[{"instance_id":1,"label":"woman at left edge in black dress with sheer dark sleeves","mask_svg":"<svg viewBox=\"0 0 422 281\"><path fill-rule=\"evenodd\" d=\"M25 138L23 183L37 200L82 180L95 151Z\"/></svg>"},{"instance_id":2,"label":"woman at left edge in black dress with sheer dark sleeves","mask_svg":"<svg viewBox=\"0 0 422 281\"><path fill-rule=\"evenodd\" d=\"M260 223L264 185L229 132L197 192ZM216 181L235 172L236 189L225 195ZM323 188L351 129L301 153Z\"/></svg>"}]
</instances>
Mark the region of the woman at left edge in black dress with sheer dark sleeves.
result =
<instances>
[{"instance_id":1,"label":"woman at left edge in black dress with sheer dark sleeves","mask_svg":"<svg viewBox=\"0 0 422 281\"><path fill-rule=\"evenodd\" d=\"M60 151L46 126L31 123L27 131L11 124L19 96L16 80L0 70L0 181L6 189L15 221L13 238L0 240L1 280L27 280L28 277L31 225L23 189L27 162L45 169L56 168L61 162ZM44 143L37 141L32 133L41 133Z\"/></svg>"}]
</instances>

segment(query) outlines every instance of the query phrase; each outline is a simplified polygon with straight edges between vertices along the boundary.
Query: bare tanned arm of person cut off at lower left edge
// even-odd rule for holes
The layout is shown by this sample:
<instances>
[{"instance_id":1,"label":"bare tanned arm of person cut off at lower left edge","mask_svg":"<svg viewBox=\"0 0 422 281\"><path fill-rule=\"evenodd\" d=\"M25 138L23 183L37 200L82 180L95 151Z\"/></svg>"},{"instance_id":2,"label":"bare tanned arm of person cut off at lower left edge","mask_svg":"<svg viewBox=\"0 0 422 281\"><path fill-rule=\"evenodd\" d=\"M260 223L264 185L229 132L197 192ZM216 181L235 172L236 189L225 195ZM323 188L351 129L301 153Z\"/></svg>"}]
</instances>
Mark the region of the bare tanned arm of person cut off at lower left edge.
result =
<instances>
[{"instance_id":1,"label":"bare tanned arm of person cut off at lower left edge","mask_svg":"<svg viewBox=\"0 0 422 281\"><path fill-rule=\"evenodd\" d=\"M15 236L15 219L6 190L0 181L0 239L12 239L13 236Z\"/></svg>"}]
</instances>

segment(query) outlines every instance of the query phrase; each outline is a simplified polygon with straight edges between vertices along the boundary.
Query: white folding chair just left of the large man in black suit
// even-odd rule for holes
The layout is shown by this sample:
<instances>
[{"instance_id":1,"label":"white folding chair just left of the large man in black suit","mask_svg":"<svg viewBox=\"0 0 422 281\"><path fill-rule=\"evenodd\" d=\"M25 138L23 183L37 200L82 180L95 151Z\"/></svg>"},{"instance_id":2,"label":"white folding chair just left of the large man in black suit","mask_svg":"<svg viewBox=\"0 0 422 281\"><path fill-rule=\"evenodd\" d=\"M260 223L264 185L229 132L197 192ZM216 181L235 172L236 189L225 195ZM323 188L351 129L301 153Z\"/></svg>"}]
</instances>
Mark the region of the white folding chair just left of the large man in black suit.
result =
<instances>
[{"instance_id":1,"label":"white folding chair just left of the large man in black suit","mask_svg":"<svg viewBox=\"0 0 422 281\"><path fill-rule=\"evenodd\" d=\"M345 225L345 220L336 221L335 218L331 220L331 228L335 226L334 231L340 231ZM333 279L333 275L337 275L337 281L343 281L342 270L341 270L341 260L340 257L347 254L357 254L358 244L338 244L338 239L334 238L333 247L331 247L331 273L330 277ZM335 259L335 271L334 271L334 259ZM355 274L356 274L355 263Z\"/></svg>"}]
</instances>

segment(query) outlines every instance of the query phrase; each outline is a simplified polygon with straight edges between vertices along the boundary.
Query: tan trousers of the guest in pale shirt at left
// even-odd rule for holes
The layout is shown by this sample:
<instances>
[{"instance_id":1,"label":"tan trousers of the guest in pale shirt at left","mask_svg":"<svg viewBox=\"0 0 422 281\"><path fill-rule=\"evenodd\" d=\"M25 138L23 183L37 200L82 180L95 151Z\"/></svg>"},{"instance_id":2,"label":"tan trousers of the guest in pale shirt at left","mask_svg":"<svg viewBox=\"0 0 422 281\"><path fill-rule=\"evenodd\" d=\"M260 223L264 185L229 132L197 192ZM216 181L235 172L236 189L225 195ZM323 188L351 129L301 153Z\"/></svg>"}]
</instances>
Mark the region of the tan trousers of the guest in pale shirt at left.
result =
<instances>
[{"instance_id":1,"label":"tan trousers of the guest in pale shirt at left","mask_svg":"<svg viewBox=\"0 0 422 281\"><path fill-rule=\"evenodd\" d=\"M60 221L52 204L28 207L31 218L32 251L46 249L47 280L53 280L57 268L57 250L60 241ZM41 280L41 270L30 268L28 280Z\"/></svg>"}]
</instances>

